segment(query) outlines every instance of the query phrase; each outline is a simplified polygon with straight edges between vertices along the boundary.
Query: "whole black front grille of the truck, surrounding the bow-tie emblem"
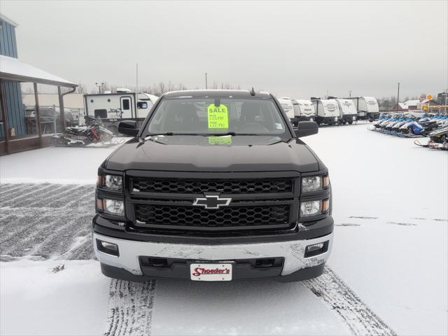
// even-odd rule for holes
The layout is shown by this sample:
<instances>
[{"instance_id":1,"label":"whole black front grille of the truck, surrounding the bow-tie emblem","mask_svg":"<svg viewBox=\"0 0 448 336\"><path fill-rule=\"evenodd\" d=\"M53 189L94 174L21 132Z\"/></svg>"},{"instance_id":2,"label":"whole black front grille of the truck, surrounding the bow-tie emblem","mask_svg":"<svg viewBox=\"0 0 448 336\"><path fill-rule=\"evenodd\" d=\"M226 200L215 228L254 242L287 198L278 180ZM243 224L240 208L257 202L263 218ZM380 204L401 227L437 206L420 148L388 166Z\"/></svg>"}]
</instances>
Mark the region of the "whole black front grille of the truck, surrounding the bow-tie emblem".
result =
<instances>
[{"instance_id":1,"label":"whole black front grille of the truck, surrounding the bow-tie emblem","mask_svg":"<svg viewBox=\"0 0 448 336\"><path fill-rule=\"evenodd\" d=\"M131 171L125 179L127 219L136 232L228 237L281 234L297 225L300 178L292 172ZM230 202L193 205L208 195Z\"/></svg>"}]
</instances>

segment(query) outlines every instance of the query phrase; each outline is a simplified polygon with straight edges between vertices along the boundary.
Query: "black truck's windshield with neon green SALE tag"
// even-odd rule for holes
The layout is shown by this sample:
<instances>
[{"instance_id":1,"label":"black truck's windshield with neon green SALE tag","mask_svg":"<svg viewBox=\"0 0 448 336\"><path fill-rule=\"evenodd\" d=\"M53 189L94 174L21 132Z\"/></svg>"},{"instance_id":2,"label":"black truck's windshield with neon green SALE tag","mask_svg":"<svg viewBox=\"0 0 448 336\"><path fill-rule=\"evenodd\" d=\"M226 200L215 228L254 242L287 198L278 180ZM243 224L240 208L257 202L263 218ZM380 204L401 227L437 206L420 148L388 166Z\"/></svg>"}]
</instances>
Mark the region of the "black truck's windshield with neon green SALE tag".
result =
<instances>
[{"instance_id":1,"label":"black truck's windshield with neon green SALE tag","mask_svg":"<svg viewBox=\"0 0 448 336\"><path fill-rule=\"evenodd\" d=\"M148 125L150 134L285 134L279 110L269 99L165 99Z\"/></svg>"}]
</instances>

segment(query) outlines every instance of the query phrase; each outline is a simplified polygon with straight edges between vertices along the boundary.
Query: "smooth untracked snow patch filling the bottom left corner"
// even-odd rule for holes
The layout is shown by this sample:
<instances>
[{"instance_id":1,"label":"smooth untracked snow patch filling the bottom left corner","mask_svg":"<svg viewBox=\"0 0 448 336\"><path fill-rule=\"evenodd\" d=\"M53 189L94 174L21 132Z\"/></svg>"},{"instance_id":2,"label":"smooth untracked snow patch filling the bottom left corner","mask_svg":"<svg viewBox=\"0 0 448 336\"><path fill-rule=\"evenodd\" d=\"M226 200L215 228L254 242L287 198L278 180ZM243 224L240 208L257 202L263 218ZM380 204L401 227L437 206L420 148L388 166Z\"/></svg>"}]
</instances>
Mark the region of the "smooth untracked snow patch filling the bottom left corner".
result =
<instances>
[{"instance_id":1,"label":"smooth untracked snow patch filling the bottom left corner","mask_svg":"<svg viewBox=\"0 0 448 336\"><path fill-rule=\"evenodd\" d=\"M98 262L1 262L0 280L0 335L102 334L110 281Z\"/></svg>"}]
</instances>

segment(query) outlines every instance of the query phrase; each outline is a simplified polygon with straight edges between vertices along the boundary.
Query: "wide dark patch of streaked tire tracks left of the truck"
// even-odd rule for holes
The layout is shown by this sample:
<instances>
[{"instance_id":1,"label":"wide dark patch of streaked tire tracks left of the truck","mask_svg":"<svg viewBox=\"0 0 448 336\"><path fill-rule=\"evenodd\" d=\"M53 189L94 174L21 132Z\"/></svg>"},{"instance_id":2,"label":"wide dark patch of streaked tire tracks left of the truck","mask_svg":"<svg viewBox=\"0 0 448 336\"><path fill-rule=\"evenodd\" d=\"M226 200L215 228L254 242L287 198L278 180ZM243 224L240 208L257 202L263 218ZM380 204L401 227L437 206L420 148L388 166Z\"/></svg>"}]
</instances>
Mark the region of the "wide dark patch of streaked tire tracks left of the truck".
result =
<instances>
[{"instance_id":1,"label":"wide dark patch of streaked tire tracks left of the truck","mask_svg":"<svg viewBox=\"0 0 448 336\"><path fill-rule=\"evenodd\" d=\"M94 258L91 221L94 186L0 185L0 255L65 259Z\"/></svg>"}]
</instances>

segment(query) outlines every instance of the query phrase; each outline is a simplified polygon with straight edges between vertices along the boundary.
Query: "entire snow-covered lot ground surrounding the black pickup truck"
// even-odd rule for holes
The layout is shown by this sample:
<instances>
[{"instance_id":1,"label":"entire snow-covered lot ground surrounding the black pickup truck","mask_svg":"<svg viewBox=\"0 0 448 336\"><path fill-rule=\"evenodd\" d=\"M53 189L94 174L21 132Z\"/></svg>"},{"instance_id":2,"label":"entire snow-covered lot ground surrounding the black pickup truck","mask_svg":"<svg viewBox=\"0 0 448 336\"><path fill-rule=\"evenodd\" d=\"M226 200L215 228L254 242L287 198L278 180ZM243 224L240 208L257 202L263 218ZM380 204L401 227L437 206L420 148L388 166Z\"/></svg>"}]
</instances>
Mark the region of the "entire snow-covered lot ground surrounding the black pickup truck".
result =
<instances>
[{"instance_id":1,"label":"entire snow-covered lot ground surrounding the black pickup truck","mask_svg":"<svg viewBox=\"0 0 448 336\"><path fill-rule=\"evenodd\" d=\"M113 148L0 158L0 334L447 335L447 153L366 125L304 141L330 169L337 225L330 269L304 283L106 279L97 261L67 259L90 258L88 184ZM20 182L87 186L6 184Z\"/></svg>"}]
</instances>

